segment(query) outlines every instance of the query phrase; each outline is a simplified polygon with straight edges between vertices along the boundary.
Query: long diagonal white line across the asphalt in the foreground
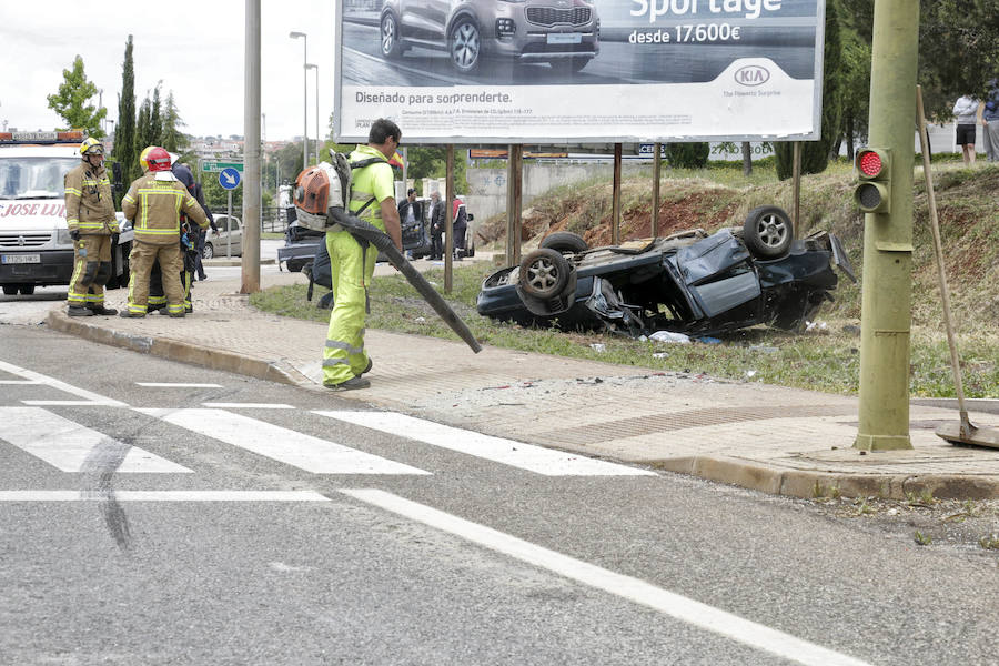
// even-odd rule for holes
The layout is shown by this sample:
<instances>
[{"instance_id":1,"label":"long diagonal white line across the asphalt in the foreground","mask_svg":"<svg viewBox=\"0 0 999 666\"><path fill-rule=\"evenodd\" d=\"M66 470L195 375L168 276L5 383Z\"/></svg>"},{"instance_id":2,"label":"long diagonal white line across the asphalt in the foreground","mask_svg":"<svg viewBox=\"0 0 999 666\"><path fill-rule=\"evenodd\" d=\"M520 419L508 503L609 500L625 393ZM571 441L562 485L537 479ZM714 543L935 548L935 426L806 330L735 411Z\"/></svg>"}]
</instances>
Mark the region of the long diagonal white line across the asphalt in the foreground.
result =
<instances>
[{"instance_id":1,"label":"long diagonal white line across the asphalt in the foreground","mask_svg":"<svg viewBox=\"0 0 999 666\"><path fill-rule=\"evenodd\" d=\"M619 596L725 638L809 666L864 666L866 663L790 634L708 606L650 583L576 559L524 539L376 490L341 493L387 512L503 553L521 562Z\"/></svg>"}]
</instances>

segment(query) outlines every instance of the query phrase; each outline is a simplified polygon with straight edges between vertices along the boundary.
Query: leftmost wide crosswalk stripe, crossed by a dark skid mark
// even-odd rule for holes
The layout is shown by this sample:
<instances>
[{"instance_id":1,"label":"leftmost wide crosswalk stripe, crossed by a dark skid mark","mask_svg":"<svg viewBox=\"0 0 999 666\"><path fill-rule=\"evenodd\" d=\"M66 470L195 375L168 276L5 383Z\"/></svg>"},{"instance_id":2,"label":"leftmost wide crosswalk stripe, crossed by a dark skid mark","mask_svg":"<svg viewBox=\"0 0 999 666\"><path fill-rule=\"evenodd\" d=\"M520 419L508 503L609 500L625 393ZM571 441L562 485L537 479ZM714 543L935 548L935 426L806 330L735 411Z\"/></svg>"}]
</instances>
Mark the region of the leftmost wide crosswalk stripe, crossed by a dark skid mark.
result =
<instances>
[{"instance_id":1,"label":"leftmost wide crosswalk stripe, crossed by a dark skid mark","mask_svg":"<svg viewBox=\"0 0 999 666\"><path fill-rule=\"evenodd\" d=\"M0 440L62 472L191 473L184 466L40 407L0 407Z\"/></svg>"}]
</instances>

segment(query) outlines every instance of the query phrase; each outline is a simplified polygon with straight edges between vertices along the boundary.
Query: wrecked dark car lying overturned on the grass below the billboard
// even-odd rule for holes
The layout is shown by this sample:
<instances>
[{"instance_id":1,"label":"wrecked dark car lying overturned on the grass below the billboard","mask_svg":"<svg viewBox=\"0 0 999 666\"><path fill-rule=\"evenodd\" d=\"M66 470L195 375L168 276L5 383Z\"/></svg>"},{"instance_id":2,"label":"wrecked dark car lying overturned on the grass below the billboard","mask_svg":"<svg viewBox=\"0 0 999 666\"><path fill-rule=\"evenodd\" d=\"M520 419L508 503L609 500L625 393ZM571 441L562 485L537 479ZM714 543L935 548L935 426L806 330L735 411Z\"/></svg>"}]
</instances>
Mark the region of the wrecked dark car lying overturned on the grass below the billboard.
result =
<instances>
[{"instance_id":1,"label":"wrecked dark car lying overturned on the grass below the billboard","mask_svg":"<svg viewBox=\"0 0 999 666\"><path fill-rule=\"evenodd\" d=\"M709 335L755 324L798 330L831 301L834 266L856 281L839 240L794 240L777 206L749 212L741 229L695 229L588 249L556 232L517 266L483 281L478 313L524 325Z\"/></svg>"}]
</instances>

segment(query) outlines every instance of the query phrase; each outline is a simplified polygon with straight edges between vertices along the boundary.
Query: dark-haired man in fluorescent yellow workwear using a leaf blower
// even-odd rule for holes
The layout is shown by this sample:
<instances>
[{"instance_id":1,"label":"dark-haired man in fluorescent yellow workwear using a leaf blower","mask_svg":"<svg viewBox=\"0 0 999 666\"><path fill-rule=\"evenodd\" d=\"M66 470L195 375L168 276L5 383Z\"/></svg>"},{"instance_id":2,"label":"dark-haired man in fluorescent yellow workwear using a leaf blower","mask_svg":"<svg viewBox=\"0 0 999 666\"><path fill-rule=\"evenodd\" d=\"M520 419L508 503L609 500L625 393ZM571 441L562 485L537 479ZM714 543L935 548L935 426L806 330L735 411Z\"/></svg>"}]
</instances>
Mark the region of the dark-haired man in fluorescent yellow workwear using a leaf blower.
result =
<instances>
[{"instance_id":1,"label":"dark-haired man in fluorescent yellow workwear using a leaf blower","mask_svg":"<svg viewBox=\"0 0 999 666\"><path fill-rule=\"evenodd\" d=\"M402 252L402 230L395 206L395 174L389 160L398 149L398 125L380 118L371 125L367 144L351 153L354 169L351 184L351 213L392 238ZM367 314L367 286L374 275L379 249L355 239L342 228L326 232L333 284L333 312L323 349L323 386L332 391L367 389L364 379L372 361L364 351L364 323Z\"/></svg>"}]
</instances>

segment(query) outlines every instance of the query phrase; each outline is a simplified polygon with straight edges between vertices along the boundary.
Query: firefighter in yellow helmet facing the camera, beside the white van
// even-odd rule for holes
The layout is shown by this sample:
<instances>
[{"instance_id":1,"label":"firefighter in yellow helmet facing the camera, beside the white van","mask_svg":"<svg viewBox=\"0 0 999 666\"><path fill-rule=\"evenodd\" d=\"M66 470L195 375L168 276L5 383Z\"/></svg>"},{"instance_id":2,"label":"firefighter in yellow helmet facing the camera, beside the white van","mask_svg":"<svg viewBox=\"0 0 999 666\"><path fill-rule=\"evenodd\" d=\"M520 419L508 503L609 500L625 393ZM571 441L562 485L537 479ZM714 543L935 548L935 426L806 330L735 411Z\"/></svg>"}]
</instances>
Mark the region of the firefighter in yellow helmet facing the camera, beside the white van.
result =
<instances>
[{"instance_id":1,"label":"firefighter in yellow helmet facing the camera, beside the white van","mask_svg":"<svg viewBox=\"0 0 999 666\"><path fill-rule=\"evenodd\" d=\"M115 314L104 307L104 285L111 279L111 249L118 243L118 221L111 182L104 171L104 145L88 137L80 144L80 164L65 174L65 222L73 239L73 275L67 314Z\"/></svg>"}]
</instances>

